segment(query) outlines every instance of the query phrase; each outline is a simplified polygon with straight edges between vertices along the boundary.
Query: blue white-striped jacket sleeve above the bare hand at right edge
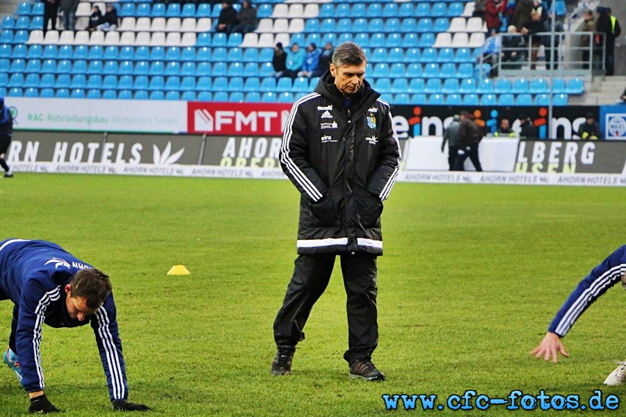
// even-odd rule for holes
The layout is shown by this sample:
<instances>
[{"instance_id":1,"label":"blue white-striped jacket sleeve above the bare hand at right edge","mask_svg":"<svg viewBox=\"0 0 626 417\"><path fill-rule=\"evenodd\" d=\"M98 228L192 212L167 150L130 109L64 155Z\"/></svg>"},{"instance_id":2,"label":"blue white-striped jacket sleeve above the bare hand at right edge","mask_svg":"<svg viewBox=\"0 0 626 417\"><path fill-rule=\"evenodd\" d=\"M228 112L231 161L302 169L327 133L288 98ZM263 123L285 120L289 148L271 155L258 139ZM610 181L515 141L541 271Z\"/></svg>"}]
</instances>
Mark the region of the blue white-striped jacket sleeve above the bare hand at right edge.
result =
<instances>
[{"instance_id":1,"label":"blue white-striped jacket sleeve above the bare hand at right edge","mask_svg":"<svg viewBox=\"0 0 626 417\"><path fill-rule=\"evenodd\" d=\"M554 320L548 332L563 337L574 325L579 316L597 297L607 292L626 275L626 245L613 252L600 265L597 265L570 294Z\"/></svg>"}]
</instances>

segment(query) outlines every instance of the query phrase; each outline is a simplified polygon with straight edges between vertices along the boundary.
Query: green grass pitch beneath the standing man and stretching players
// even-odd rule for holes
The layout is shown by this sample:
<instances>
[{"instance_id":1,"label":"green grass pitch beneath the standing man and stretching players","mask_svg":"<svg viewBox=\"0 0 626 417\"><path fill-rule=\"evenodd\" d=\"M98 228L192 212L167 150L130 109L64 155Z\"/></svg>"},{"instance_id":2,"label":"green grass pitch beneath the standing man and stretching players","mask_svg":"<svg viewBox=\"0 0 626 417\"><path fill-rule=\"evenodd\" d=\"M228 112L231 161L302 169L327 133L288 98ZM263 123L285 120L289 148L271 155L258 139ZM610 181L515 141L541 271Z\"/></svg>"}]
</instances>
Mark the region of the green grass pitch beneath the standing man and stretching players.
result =
<instances>
[{"instance_id":1,"label":"green grass pitch beneath the standing man and stretching players","mask_svg":"<svg viewBox=\"0 0 626 417\"><path fill-rule=\"evenodd\" d=\"M569 359L528 354L580 279L625 243L621 188L396 183L378 263L382 383L347 377L339 268L292 375L269 373L272 324L296 257L298 193L289 181L16 174L0 181L0 202L1 238L53 240L111 275L129 400L154 416L417 414L401 402L385 410L381 395L435 394L441 404L468 389L581 402L601 389L626 401L626 388L602 387L613 359L626 358L621 288L572 328ZM176 264L191 275L166 275ZM0 302L5 340L11 308ZM49 399L65 416L111 415L90 327L45 327L42 361ZM26 413L15 375L0 369L0 415Z\"/></svg>"}]
</instances>

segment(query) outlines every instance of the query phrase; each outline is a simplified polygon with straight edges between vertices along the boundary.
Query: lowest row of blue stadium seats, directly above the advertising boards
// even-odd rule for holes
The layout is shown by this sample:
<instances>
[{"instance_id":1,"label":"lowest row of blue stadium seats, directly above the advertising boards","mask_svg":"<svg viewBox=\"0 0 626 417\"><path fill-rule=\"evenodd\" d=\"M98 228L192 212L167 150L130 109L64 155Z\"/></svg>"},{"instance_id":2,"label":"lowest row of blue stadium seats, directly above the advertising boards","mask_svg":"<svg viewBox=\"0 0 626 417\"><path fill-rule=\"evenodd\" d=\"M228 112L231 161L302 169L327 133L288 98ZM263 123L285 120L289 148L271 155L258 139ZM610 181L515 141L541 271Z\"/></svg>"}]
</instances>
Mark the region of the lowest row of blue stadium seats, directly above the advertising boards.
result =
<instances>
[{"instance_id":1,"label":"lowest row of blue stadium seats, directly above the advertising boards","mask_svg":"<svg viewBox=\"0 0 626 417\"><path fill-rule=\"evenodd\" d=\"M83 88L12 88L8 92L6 88L0 88L0 95L10 95L11 97L44 97L44 98L73 98L73 99L120 99L120 100L185 100L185 101L230 101L249 103L293 103L298 97L298 93L293 92L226 92L226 91L202 91L195 92L184 90L183 92L170 90L85 90ZM548 106L548 95L537 95L534 99L529 94L501 95L465 95L458 94L396 94L391 101L394 104L415 104L415 105L448 105L448 106ZM566 106L568 96L565 94L554 95L553 104L555 106Z\"/></svg>"}]
</instances>

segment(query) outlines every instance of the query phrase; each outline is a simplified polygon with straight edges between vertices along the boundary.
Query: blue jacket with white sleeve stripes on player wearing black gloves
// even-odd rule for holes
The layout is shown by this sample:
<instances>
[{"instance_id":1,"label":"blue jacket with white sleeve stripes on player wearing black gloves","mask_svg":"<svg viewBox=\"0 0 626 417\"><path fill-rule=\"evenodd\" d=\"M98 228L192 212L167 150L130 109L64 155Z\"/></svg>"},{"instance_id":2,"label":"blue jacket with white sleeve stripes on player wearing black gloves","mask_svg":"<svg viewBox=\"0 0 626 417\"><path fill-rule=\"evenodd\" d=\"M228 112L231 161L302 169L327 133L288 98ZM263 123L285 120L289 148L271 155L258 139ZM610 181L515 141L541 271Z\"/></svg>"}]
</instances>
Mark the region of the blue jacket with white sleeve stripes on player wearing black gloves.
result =
<instances>
[{"instance_id":1,"label":"blue jacket with white sleeve stripes on player wearing black gloves","mask_svg":"<svg viewBox=\"0 0 626 417\"><path fill-rule=\"evenodd\" d=\"M70 283L74 273L85 268L93 266L55 243L24 239L0 242L0 300L10 298L19 306L15 353L22 369L22 385L27 392L44 389L39 349L43 323L51 327L77 327L90 323L111 401L126 400L126 369L113 295L83 322L67 314L65 285Z\"/></svg>"}]
</instances>

